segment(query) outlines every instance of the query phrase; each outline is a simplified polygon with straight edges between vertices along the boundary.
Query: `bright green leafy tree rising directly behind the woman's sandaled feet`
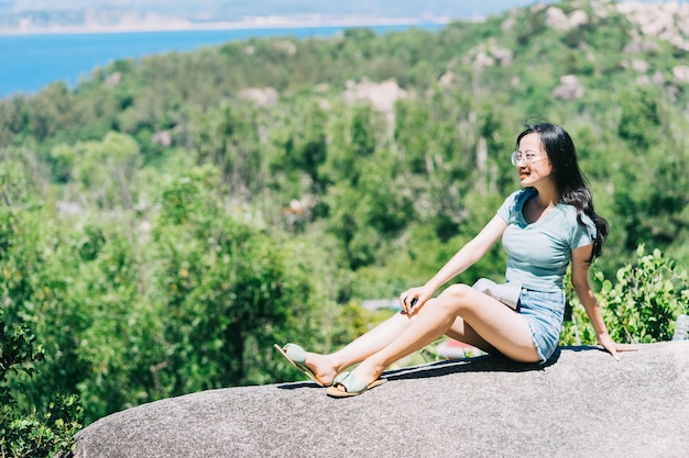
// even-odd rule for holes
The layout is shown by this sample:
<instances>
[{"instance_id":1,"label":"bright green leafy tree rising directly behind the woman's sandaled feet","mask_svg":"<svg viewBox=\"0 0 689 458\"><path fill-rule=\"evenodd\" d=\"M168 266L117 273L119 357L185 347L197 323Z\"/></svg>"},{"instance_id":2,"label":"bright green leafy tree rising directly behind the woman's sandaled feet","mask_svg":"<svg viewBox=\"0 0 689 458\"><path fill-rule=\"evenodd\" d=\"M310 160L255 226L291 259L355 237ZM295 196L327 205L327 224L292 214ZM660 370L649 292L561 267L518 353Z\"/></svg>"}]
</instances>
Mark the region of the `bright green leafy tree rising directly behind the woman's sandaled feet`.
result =
<instances>
[{"instance_id":1,"label":"bright green leafy tree rising directly behind the woman's sandaled feet","mask_svg":"<svg viewBox=\"0 0 689 458\"><path fill-rule=\"evenodd\" d=\"M168 347L161 377L175 393L271 380L272 344L308 328L314 313L289 246L226 214L219 190L208 167L173 181L153 230Z\"/></svg>"}]
</instances>

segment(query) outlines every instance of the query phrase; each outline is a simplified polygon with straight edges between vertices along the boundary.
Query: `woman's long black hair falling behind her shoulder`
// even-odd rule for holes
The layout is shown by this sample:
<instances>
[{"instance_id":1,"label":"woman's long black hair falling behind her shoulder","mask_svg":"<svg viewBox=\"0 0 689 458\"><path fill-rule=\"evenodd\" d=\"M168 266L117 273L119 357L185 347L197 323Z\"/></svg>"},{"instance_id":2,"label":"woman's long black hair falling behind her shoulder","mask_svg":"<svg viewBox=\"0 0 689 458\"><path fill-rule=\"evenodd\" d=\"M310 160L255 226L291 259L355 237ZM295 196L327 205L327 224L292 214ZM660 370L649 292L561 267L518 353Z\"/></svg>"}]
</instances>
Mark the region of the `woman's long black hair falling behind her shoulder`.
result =
<instances>
[{"instance_id":1,"label":"woman's long black hair falling behind her shoulder","mask_svg":"<svg viewBox=\"0 0 689 458\"><path fill-rule=\"evenodd\" d=\"M555 172L555 183L561 203L573 205L577 209L577 221L583 225L581 213L588 215L595 224L595 237L593 238L593 257L600 256L603 243L608 237L608 221L595 214L593 198L589 190L589 183L579 168L575 142L562 127L550 123L529 125L517 137L520 141L528 134L537 133L540 143L548 154L548 159Z\"/></svg>"}]
</instances>

